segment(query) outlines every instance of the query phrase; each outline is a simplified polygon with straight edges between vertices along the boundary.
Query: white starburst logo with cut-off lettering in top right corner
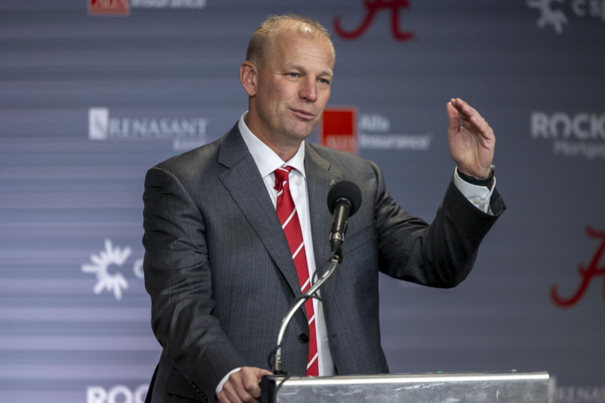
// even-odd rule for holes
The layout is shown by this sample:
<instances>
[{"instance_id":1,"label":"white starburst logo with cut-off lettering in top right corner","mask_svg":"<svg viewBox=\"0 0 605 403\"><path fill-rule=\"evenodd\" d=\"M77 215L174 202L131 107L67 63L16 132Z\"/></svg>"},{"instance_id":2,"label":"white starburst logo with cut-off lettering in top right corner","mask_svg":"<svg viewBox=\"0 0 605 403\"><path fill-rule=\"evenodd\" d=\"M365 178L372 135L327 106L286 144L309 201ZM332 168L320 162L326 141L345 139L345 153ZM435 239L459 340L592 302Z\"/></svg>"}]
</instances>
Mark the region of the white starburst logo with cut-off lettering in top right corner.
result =
<instances>
[{"instance_id":1,"label":"white starburst logo with cut-off lettering in top right corner","mask_svg":"<svg viewBox=\"0 0 605 403\"><path fill-rule=\"evenodd\" d=\"M604 0L528 0L527 5L539 12L538 28L551 27L558 34L569 24L569 16L605 22Z\"/></svg>"}]
</instances>

